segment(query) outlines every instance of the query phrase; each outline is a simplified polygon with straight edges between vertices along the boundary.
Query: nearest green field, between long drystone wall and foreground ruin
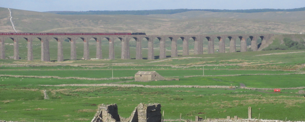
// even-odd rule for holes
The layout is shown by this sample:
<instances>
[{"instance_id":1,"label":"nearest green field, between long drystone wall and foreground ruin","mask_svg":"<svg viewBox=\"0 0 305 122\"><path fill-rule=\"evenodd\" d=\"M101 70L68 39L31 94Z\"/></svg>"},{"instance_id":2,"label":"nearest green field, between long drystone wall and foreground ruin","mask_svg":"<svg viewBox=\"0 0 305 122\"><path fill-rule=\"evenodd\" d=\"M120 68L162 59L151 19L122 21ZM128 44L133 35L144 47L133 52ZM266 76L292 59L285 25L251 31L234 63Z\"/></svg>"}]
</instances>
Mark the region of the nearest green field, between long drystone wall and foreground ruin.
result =
<instances>
[{"instance_id":1,"label":"nearest green field, between long drystone wall and foreground ruin","mask_svg":"<svg viewBox=\"0 0 305 122\"><path fill-rule=\"evenodd\" d=\"M42 91L48 90L51 99L43 100ZM236 93L238 92L238 93ZM272 94L244 89L211 88L120 88L120 87L43 87L1 86L1 119L14 121L88 121L96 106L118 104L122 117L129 117L140 102L162 104L165 119L194 119L194 116L226 118L238 115L247 118L252 106L252 117L261 119L304 120L304 97L293 90ZM3 98L4 97L4 98ZM289 112L285 112L285 110ZM279 111L272 113L271 111ZM205 114L198 114L199 112ZM22 117L13 117L13 115Z\"/></svg>"}]
</instances>

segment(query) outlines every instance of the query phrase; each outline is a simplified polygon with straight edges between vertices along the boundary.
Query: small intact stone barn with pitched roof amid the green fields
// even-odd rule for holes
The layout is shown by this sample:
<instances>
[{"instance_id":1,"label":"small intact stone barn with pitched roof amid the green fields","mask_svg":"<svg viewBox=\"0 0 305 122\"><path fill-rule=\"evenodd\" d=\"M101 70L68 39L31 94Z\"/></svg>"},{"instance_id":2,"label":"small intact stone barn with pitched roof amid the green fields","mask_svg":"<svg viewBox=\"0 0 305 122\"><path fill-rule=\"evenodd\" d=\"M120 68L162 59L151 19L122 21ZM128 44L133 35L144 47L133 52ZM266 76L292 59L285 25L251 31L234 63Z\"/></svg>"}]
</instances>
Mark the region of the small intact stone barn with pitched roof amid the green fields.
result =
<instances>
[{"instance_id":1,"label":"small intact stone barn with pitched roof amid the green fields","mask_svg":"<svg viewBox=\"0 0 305 122\"><path fill-rule=\"evenodd\" d=\"M156 71L139 71L135 74L135 81L162 81L164 77Z\"/></svg>"}]
</instances>

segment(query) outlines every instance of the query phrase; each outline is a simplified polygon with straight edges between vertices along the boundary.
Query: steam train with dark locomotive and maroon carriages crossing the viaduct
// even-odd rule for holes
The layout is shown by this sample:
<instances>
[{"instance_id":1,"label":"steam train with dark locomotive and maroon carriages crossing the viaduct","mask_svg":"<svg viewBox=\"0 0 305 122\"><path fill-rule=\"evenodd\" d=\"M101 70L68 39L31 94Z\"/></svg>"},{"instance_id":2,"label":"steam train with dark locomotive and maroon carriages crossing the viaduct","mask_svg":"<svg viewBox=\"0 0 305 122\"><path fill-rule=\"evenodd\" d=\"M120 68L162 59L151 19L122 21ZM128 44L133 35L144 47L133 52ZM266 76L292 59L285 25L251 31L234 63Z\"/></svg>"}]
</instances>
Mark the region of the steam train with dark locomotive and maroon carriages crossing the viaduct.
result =
<instances>
[{"instance_id":1,"label":"steam train with dark locomotive and maroon carriages crossing the viaduct","mask_svg":"<svg viewBox=\"0 0 305 122\"><path fill-rule=\"evenodd\" d=\"M0 35L146 35L145 33L0 33Z\"/></svg>"}]
</instances>

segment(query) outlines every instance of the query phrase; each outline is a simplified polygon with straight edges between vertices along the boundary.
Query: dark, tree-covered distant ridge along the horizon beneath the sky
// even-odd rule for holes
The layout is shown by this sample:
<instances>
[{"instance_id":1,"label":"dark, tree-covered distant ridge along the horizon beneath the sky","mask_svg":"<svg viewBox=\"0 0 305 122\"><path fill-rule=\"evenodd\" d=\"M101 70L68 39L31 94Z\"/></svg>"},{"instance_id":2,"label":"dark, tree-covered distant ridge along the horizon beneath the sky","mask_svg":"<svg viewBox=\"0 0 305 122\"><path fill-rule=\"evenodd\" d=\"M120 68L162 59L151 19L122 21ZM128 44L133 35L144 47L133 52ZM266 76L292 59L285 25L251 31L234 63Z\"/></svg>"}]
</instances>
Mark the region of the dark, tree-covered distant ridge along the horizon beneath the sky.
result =
<instances>
[{"instance_id":1,"label":"dark, tree-covered distant ridge along the horizon beneath the sky","mask_svg":"<svg viewBox=\"0 0 305 122\"><path fill-rule=\"evenodd\" d=\"M94 15L94 14L106 14L106 15L150 15L150 14L175 14L187 11L208 11L208 12L236 12L236 13L259 13L259 12L294 12L294 11L305 11L305 7L296 9L238 9L238 10L227 10L227 9L162 9L162 10L132 10L132 11L50 11L46 13L55 13L62 15Z\"/></svg>"}]
</instances>

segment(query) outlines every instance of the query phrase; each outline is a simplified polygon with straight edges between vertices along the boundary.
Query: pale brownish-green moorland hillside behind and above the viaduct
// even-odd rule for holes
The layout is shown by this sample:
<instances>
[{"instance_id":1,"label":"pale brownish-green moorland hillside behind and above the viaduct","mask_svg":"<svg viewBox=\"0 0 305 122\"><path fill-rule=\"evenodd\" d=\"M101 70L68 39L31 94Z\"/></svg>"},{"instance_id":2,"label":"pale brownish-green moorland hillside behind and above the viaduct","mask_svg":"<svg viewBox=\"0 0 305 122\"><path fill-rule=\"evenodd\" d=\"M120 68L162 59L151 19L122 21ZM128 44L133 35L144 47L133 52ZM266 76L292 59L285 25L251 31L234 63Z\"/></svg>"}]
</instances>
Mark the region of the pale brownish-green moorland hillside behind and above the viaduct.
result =
<instances>
[{"instance_id":1,"label":"pale brownish-green moorland hillside behind and above the viaduct","mask_svg":"<svg viewBox=\"0 0 305 122\"><path fill-rule=\"evenodd\" d=\"M9 30L9 12L0 9L1 32ZM188 11L154 15L58 15L12 9L19 32L146 32L153 34L245 34L304 32L305 11L217 13ZM6 29L5 29L6 28ZM12 32L12 30L10 30Z\"/></svg>"}]
</instances>

